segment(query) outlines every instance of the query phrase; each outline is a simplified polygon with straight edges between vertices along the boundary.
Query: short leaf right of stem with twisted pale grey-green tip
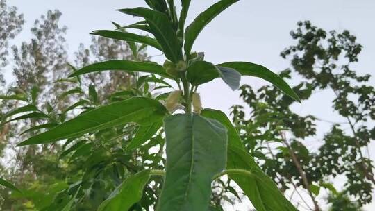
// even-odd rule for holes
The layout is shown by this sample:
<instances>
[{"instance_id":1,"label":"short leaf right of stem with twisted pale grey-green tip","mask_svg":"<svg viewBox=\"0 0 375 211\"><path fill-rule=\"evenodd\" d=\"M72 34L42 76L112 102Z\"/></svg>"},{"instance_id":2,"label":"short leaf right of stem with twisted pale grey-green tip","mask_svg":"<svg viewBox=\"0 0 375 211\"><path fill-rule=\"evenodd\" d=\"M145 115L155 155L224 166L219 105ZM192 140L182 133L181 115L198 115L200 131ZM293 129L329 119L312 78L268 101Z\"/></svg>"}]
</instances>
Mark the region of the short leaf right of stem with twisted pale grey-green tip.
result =
<instances>
[{"instance_id":1,"label":"short leaf right of stem with twisted pale grey-green tip","mask_svg":"<svg viewBox=\"0 0 375 211\"><path fill-rule=\"evenodd\" d=\"M237 90L240 87L241 75L238 71L228 67L217 67L206 61L192 62L188 67L187 76L192 85L201 85L221 77L232 90Z\"/></svg>"}]
</instances>

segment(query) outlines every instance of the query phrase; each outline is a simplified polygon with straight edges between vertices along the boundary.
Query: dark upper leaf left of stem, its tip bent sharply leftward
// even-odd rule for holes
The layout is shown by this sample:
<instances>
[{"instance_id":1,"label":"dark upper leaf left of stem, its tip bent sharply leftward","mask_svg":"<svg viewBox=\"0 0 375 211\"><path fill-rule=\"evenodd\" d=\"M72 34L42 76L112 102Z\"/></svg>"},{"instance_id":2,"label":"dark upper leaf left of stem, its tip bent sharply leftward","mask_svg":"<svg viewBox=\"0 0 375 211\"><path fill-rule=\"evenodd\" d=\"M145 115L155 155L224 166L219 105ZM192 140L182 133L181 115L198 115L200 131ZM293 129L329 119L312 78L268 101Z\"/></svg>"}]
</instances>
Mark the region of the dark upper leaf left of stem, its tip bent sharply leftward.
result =
<instances>
[{"instance_id":1,"label":"dark upper leaf left of stem, its tip bent sharply leftward","mask_svg":"<svg viewBox=\"0 0 375 211\"><path fill-rule=\"evenodd\" d=\"M122 9L119 11L128 15L143 17L149 24L153 36L163 48L165 56L174 63L183 60L181 41L178 41L173 24L165 13L147 8Z\"/></svg>"}]
</instances>

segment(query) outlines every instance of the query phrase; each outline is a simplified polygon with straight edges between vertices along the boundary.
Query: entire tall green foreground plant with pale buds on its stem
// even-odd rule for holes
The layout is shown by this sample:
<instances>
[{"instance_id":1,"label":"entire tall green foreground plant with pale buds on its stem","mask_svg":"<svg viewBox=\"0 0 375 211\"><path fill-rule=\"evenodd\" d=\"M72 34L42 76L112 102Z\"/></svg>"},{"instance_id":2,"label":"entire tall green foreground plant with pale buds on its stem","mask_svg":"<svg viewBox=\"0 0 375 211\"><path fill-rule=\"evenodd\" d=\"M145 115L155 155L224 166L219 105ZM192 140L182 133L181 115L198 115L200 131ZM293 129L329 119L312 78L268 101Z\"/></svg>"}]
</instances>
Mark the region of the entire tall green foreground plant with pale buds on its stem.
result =
<instances>
[{"instance_id":1,"label":"entire tall green foreground plant with pale buds on its stem","mask_svg":"<svg viewBox=\"0 0 375 211\"><path fill-rule=\"evenodd\" d=\"M224 112L203 109L197 93L199 85L215 78L221 78L232 90L237 90L242 76L253 76L263 78L299 101L290 86L266 67L251 62L213 64L204 60L203 52L192 51L194 41L203 28L237 1L218 1L188 26L185 26L185 20L190 0L181 0L181 11L177 11L173 0L146 0L149 8L119 10L126 15L140 17L142 21L128 26L115 24L117 29L114 31L99 30L92 34L128 42L135 54L145 46L158 49L166 58L164 64L108 60L74 69L69 77L73 80L83 74L100 71L126 71L140 74L139 78L144 74L151 75L149 78L152 81L167 84L164 87L169 91L158 97L141 93L106 105L88 106L78 116L67 121L63 119L44 133L20 142L18 146L56 144L60 140L67 140L69 144L82 137L95 140L95 137L116 133L116 137L132 137L122 147L125 151L136 151L156 135L162 137L165 149L161 144L158 153L165 156L165 168L135 168L134 174L124 177L113 193L100 203L98 210L142 210L134 205L142 199L144 189L153 178L162 180L161 191L156 193L154 210L216 210L210 206L211 183L222 176L233 180L256 210L297 210L258 167ZM130 33L128 29L144 31L150 36ZM176 85L169 85L172 82ZM90 87L91 95L95 96L93 90L94 87ZM31 107L25 109L35 110ZM126 131L130 130L135 135L119 133L119 128L130 128ZM87 146L85 144L83 142L80 146ZM93 142L90 147L93 144L97 143ZM100 161L103 164L106 158L92 153L90 162ZM82 181L94 174L91 171L84 173ZM73 194L70 194L71 199L65 201L64 210L70 210L74 204L80 203L78 198L85 188L83 182L75 186ZM69 192L72 193L72 189Z\"/></svg>"}]
</instances>

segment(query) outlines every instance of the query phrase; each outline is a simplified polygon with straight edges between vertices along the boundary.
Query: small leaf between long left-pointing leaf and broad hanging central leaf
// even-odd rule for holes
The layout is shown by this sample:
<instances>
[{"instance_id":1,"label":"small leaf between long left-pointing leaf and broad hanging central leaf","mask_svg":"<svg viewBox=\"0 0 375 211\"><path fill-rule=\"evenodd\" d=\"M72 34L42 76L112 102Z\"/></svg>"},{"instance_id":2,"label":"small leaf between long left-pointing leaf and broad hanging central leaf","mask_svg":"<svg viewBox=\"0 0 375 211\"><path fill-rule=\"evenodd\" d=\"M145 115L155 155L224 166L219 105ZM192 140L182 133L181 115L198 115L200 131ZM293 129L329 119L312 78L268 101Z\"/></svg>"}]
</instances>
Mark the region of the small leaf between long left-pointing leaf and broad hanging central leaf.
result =
<instances>
[{"instance_id":1,"label":"small leaf between long left-pointing leaf and broad hanging central leaf","mask_svg":"<svg viewBox=\"0 0 375 211\"><path fill-rule=\"evenodd\" d=\"M125 150L131 151L133 149L137 149L138 147L140 147L142 144L144 144L144 142L150 140L151 137L153 137L153 135L155 135L155 133L158 132L162 125L162 121L157 121L149 126L140 126L137 130L137 133L135 133L135 137L126 146Z\"/></svg>"}]
</instances>

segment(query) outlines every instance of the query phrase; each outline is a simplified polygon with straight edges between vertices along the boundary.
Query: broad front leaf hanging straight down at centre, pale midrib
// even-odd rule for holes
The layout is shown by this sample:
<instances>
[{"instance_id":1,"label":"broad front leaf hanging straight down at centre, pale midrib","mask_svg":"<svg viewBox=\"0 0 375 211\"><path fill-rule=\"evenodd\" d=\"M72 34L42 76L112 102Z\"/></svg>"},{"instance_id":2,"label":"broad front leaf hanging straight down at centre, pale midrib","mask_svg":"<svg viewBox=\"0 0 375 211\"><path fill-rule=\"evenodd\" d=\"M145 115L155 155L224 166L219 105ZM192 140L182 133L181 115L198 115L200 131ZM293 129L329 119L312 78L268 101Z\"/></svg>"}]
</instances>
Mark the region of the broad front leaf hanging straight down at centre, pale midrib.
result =
<instances>
[{"instance_id":1,"label":"broad front leaf hanging straight down at centre, pale midrib","mask_svg":"<svg viewBox=\"0 0 375 211\"><path fill-rule=\"evenodd\" d=\"M157 211L208 210L213 175L226 164L226 128L215 119L166 117L166 176Z\"/></svg>"}]
</instances>

